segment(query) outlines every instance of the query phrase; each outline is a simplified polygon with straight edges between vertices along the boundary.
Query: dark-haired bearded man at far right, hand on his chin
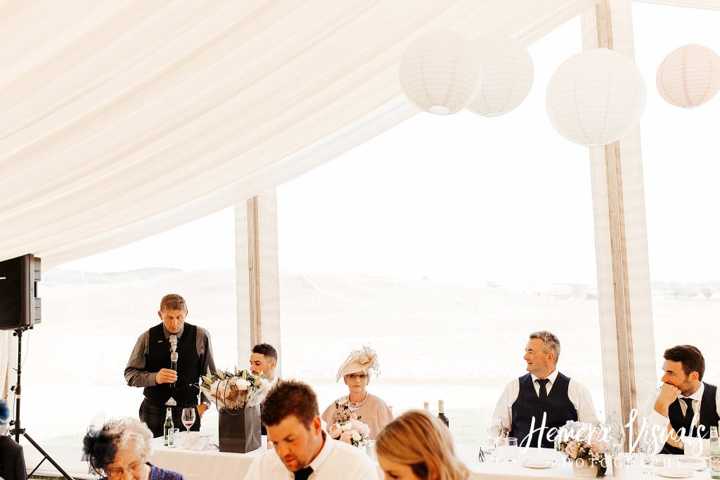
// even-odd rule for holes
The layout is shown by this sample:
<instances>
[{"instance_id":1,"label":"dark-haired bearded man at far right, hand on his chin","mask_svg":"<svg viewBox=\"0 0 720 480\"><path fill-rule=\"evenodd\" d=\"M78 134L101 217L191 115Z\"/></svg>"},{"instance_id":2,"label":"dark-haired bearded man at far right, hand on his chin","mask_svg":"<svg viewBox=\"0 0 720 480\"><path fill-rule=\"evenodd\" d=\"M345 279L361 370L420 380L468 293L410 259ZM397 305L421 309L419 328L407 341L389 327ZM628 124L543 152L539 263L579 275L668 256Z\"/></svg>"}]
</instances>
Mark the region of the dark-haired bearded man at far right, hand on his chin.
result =
<instances>
[{"instance_id":1,"label":"dark-haired bearded man at far right, hand on his chin","mask_svg":"<svg viewBox=\"0 0 720 480\"><path fill-rule=\"evenodd\" d=\"M710 438L710 427L720 427L720 391L702 381L705 358L693 345L668 348L662 357L662 385L645 402L644 441L652 442L656 452L683 455L688 450L699 456L709 440L698 439Z\"/></svg>"}]
</instances>

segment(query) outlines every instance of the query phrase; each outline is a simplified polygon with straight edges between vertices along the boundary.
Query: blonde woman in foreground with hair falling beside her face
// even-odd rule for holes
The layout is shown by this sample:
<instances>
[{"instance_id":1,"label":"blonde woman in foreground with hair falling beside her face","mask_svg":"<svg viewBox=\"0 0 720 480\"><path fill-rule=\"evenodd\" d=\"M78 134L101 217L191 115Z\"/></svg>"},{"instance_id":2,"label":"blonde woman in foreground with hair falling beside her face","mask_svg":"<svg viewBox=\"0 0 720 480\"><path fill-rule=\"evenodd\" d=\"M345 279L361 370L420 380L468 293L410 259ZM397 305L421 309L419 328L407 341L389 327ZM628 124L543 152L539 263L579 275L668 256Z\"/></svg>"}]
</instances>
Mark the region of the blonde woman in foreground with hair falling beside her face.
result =
<instances>
[{"instance_id":1,"label":"blonde woman in foreground with hair falling beside her face","mask_svg":"<svg viewBox=\"0 0 720 480\"><path fill-rule=\"evenodd\" d=\"M470 474L455 456L450 430L421 410L387 425L375 451L386 480L467 480Z\"/></svg>"}]
</instances>

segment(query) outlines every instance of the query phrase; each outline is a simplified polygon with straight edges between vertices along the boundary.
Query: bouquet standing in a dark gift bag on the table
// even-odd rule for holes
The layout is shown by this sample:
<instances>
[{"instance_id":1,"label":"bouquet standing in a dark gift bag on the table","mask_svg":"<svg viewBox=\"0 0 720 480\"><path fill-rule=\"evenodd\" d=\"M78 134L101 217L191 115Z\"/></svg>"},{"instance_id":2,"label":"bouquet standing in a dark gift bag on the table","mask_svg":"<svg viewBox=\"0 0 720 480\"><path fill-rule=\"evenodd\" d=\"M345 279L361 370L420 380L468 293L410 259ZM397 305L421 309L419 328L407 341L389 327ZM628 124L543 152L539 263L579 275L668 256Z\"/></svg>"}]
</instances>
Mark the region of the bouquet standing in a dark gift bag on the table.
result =
<instances>
[{"instance_id":1,"label":"bouquet standing in a dark gift bag on the table","mask_svg":"<svg viewBox=\"0 0 720 480\"><path fill-rule=\"evenodd\" d=\"M215 402L221 452L247 453L260 448L260 404L270 390L267 375L208 369L200 390Z\"/></svg>"}]
</instances>

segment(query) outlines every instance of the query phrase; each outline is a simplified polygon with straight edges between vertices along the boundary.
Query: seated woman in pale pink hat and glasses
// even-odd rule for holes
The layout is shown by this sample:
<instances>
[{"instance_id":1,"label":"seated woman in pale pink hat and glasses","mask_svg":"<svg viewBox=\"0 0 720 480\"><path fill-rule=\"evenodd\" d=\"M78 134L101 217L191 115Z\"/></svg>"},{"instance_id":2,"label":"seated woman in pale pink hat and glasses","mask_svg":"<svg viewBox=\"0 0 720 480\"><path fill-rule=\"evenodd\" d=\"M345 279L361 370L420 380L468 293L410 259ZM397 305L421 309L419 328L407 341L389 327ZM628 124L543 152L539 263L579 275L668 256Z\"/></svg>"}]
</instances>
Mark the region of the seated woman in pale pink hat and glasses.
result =
<instances>
[{"instance_id":1,"label":"seated woman in pale pink hat and glasses","mask_svg":"<svg viewBox=\"0 0 720 480\"><path fill-rule=\"evenodd\" d=\"M348 356L338 369L336 380L342 377L350 393L337 399L323 412L328 429L337 421L338 414L348 412L357 415L358 420L370 427L370 440L374 440L385 425L392 422L392 412L385 402L367 392L370 372L377 374L378 370L377 354L367 345Z\"/></svg>"}]
</instances>

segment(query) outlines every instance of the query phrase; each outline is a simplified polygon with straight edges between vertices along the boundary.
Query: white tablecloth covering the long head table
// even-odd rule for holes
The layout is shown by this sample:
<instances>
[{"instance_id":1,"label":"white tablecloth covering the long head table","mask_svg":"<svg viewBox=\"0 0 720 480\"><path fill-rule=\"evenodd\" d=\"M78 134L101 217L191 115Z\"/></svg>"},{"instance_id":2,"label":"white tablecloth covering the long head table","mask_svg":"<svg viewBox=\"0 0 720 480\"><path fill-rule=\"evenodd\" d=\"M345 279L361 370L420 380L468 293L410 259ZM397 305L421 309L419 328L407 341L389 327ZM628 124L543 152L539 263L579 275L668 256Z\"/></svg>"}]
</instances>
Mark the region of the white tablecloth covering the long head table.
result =
<instances>
[{"instance_id":1,"label":"white tablecloth covering the long head table","mask_svg":"<svg viewBox=\"0 0 720 480\"><path fill-rule=\"evenodd\" d=\"M181 433L181 443L185 438L185 433ZM217 440L215 438L214 440ZM264 438L263 438L264 440ZM166 448L163 447L163 439L156 438L153 440L154 452L150 456L150 463L160 468L166 468L172 471L178 471L185 476L186 480L242 480L250 468L253 459L261 456L266 451L265 445L258 450L250 453L223 453L213 448L212 450L204 450L202 452L185 450L182 447ZM558 462L553 468L526 468L522 466L523 458L557 458L557 452L554 450L541 449L532 450L528 453L521 453L520 461L517 462L480 462L477 460L478 448L470 445L456 445L456 453L459 458L472 471L471 480L509 480L509 479L528 479L528 480L557 480L557 479L573 479L572 466L569 463ZM662 456L658 456L662 458ZM639 460L636 459L636 462ZM641 474L636 466L626 468L624 479L627 480L652 480L660 479L657 472L662 470L662 466L655 468L656 474ZM608 477L612 477L612 469L608 469ZM708 471L694 472L690 478L705 479L708 478ZM379 479L382 476L379 475Z\"/></svg>"}]
</instances>

